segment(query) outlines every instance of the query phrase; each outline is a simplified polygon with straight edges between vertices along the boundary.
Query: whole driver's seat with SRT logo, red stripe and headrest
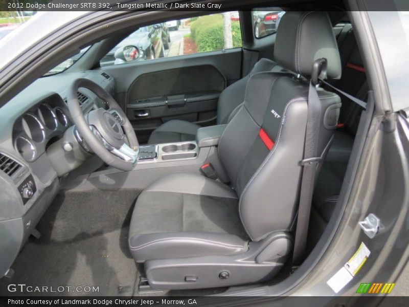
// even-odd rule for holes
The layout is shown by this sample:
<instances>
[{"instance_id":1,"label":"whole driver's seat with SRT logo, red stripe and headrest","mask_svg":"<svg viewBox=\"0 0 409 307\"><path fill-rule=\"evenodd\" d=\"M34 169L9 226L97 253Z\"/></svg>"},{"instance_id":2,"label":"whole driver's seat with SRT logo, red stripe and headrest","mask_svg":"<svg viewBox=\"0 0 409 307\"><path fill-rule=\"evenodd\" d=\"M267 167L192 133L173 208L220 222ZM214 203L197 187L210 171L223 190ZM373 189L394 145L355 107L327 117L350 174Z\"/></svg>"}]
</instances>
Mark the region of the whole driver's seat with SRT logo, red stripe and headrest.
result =
<instances>
[{"instance_id":1,"label":"whole driver's seat with SRT logo, red stripe and headrest","mask_svg":"<svg viewBox=\"0 0 409 307\"><path fill-rule=\"evenodd\" d=\"M243 106L218 151L231 186L177 172L147 187L135 204L129 248L153 289L213 288L274 276L292 249L306 134L310 77L317 58L339 78L340 60L326 12L289 12L275 58L295 74L253 75ZM298 75L298 76L297 76ZM319 151L325 155L339 114L337 95L321 101Z\"/></svg>"}]
</instances>

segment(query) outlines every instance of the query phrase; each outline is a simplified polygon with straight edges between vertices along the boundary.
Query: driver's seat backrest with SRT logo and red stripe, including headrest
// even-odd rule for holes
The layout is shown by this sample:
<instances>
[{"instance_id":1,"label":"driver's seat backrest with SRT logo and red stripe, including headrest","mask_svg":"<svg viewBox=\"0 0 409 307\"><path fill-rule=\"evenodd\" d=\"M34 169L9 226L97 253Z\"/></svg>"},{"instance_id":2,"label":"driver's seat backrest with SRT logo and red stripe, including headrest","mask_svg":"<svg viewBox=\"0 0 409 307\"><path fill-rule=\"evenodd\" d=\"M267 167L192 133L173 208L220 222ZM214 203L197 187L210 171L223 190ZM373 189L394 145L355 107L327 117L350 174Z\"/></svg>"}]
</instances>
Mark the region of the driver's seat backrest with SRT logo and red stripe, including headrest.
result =
<instances>
[{"instance_id":1,"label":"driver's seat backrest with SRT logo and red stripe, including headrest","mask_svg":"<svg viewBox=\"0 0 409 307\"><path fill-rule=\"evenodd\" d=\"M340 77L339 53L326 12L288 12L276 37L277 63L308 78L318 58L329 78ZM309 83L295 75L265 72L249 78L243 106L219 142L219 156L240 195L241 221L253 240L289 229L297 211L308 112ZM319 152L329 146L340 98L318 89Z\"/></svg>"}]
</instances>

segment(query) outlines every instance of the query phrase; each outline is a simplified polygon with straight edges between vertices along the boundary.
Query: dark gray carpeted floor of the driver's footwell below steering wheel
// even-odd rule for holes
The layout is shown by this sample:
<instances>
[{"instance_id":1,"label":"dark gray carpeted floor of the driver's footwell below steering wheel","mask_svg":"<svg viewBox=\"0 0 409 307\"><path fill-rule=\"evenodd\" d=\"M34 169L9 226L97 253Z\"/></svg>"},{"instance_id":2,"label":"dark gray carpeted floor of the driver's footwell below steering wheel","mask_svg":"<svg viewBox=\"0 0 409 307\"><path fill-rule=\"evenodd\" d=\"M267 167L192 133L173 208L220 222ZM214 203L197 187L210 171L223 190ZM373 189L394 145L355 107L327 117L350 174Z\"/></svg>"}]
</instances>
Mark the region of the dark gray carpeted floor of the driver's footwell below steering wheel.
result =
<instances>
[{"instance_id":1,"label":"dark gray carpeted floor of the driver's footwell below steering wheel","mask_svg":"<svg viewBox=\"0 0 409 307\"><path fill-rule=\"evenodd\" d=\"M137 268L127 236L137 196L133 189L58 194L37 225L42 236L29 238L14 276L0 279L0 295L132 295ZM10 283L56 292L10 293Z\"/></svg>"}]
</instances>

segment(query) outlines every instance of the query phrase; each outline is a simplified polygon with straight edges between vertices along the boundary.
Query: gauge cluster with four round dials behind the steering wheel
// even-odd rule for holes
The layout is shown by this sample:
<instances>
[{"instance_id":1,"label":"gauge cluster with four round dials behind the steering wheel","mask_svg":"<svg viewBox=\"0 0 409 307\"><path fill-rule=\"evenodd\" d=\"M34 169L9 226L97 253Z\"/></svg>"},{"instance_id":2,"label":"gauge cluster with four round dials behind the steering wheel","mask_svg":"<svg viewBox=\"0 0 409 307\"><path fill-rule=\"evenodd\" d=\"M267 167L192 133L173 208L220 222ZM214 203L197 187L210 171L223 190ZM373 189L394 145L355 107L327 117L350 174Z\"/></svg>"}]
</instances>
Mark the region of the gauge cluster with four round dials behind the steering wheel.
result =
<instances>
[{"instance_id":1,"label":"gauge cluster with four round dials behind the steering wheel","mask_svg":"<svg viewBox=\"0 0 409 307\"><path fill-rule=\"evenodd\" d=\"M24 160L33 162L50 142L61 138L70 125L64 101L53 94L17 118L13 127L14 147Z\"/></svg>"}]
</instances>

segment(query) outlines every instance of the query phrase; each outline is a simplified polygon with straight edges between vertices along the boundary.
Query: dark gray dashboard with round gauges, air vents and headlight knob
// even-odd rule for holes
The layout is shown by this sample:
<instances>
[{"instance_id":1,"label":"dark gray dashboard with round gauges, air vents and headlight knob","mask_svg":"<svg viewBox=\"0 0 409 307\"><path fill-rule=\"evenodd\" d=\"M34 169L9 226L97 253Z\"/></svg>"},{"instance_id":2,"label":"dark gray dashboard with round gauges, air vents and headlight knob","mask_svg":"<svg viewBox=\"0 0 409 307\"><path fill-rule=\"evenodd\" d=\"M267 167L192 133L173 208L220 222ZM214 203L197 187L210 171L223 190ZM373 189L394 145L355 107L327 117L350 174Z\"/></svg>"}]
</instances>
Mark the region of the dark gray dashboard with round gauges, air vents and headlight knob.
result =
<instances>
[{"instance_id":1,"label":"dark gray dashboard with round gauges, air vents and headlight knob","mask_svg":"<svg viewBox=\"0 0 409 307\"><path fill-rule=\"evenodd\" d=\"M78 78L115 92L113 78L100 70L60 73L37 79L0 108L0 276L59 191L59 160L49 149L75 130L66 97ZM87 89L77 94L84 115L105 105Z\"/></svg>"}]
</instances>

